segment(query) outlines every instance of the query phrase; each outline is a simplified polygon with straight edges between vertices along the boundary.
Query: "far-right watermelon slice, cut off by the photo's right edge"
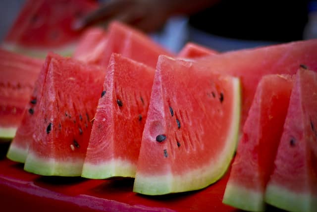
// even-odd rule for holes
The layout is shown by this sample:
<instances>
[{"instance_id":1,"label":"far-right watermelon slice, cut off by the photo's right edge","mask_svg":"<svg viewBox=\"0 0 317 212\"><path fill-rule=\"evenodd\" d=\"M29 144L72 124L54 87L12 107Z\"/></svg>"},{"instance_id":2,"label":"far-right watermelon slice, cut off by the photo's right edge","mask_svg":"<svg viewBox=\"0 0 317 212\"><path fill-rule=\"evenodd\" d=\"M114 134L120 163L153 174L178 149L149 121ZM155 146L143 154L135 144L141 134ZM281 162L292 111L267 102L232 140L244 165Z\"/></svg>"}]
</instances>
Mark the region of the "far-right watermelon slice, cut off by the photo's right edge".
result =
<instances>
[{"instance_id":1,"label":"far-right watermelon slice, cut off by the photo's right edge","mask_svg":"<svg viewBox=\"0 0 317 212\"><path fill-rule=\"evenodd\" d=\"M265 201L291 212L317 211L317 73L300 69Z\"/></svg>"}]
</instances>

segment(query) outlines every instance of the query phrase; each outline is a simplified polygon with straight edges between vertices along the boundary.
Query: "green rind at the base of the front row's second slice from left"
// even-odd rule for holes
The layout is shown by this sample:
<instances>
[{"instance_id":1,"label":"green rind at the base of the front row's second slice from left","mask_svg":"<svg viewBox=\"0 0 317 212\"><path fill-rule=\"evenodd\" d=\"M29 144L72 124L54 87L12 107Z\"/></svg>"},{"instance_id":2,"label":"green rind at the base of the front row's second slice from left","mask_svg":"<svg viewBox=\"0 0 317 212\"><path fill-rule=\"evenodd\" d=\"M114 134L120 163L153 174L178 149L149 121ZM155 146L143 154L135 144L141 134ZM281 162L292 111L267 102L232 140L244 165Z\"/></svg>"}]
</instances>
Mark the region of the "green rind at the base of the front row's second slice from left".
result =
<instances>
[{"instance_id":1,"label":"green rind at the base of the front row's second slice from left","mask_svg":"<svg viewBox=\"0 0 317 212\"><path fill-rule=\"evenodd\" d=\"M24 170L44 176L81 176L84 159L65 159L65 161L40 158L29 152L25 160Z\"/></svg>"}]
</instances>

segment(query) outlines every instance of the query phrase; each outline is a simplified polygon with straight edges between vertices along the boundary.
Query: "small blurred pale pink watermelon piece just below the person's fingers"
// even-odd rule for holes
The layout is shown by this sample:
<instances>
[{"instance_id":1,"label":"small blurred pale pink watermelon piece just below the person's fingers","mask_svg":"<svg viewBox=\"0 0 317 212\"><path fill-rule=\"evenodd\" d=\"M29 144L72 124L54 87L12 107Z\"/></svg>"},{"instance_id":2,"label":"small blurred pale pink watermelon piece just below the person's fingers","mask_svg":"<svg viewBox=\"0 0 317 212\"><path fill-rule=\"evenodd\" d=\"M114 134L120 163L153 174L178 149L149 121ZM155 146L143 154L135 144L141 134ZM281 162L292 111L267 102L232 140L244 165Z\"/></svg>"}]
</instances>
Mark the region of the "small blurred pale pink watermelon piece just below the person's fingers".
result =
<instances>
[{"instance_id":1,"label":"small blurred pale pink watermelon piece just below the person's fingers","mask_svg":"<svg viewBox=\"0 0 317 212\"><path fill-rule=\"evenodd\" d=\"M102 28L89 28L80 38L73 58L90 64L99 64L106 48L107 33Z\"/></svg>"}]
</instances>

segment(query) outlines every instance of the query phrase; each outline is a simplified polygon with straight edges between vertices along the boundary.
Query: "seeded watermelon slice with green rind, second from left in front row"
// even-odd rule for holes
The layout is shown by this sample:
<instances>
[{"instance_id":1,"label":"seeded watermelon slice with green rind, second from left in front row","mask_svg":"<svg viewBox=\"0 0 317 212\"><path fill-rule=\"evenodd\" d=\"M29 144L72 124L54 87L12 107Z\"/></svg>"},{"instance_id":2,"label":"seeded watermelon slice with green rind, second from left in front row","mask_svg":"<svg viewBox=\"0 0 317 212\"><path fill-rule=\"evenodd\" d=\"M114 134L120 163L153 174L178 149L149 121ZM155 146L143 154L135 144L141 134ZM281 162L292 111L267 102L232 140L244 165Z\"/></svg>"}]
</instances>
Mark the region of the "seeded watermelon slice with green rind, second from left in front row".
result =
<instances>
[{"instance_id":1,"label":"seeded watermelon slice with green rind, second from left in front row","mask_svg":"<svg viewBox=\"0 0 317 212\"><path fill-rule=\"evenodd\" d=\"M24 169L80 176L105 71L52 56Z\"/></svg>"}]
</instances>

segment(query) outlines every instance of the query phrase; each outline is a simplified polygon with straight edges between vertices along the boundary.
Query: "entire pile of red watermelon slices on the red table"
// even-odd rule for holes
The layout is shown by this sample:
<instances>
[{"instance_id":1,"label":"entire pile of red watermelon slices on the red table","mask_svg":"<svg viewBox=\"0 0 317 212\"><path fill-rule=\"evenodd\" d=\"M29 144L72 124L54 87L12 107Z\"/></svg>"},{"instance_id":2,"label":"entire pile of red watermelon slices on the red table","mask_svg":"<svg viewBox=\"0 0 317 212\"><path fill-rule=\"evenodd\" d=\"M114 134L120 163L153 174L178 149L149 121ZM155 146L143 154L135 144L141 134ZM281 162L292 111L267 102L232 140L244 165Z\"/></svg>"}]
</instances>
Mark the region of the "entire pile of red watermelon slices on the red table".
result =
<instances>
[{"instance_id":1,"label":"entire pile of red watermelon slices on the red table","mask_svg":"<svg viewBox=\"0 0 317 212\"><path fill-rule=\"evenodd\" d=\"M21 14L48 34L70 29L47 25L46 5L29 0ZM71 58L48 53L50 39L25 40L22 20L4 47L46 58L0 51L0 136L26 171L132 177L134 192L163 195L210 186L233 161L224 204L317 211L317 40L227 53L189 43L174 55L111 22L59 34L76 43Z\"/></svg>"}]
</instances>

